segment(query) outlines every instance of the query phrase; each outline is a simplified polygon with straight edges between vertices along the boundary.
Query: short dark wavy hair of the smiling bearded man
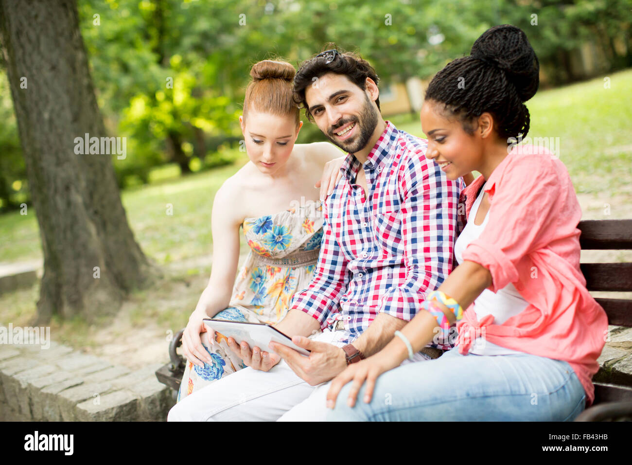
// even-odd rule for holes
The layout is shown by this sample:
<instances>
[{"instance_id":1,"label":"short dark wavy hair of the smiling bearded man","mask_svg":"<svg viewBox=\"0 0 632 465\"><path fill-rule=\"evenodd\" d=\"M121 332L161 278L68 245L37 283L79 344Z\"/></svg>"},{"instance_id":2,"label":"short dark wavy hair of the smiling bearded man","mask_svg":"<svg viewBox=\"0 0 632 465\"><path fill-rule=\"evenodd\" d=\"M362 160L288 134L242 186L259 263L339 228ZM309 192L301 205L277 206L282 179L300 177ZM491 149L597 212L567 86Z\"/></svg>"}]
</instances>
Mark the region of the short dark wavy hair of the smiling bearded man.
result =
<instances>
[{"instance_id":1,"label":"short dark wavy hair of the smiling bearded man","mask_svg":"<svg viewBox=\"0 0 632 465\"><path fill-rule=\"evenodd\" d=\"M327 49L335 49L335 44L325 45L322 51ZM327 63L327 58L324 56L317 57L317 54L303 61L294 77L294 101L298 108L305 108L305 116L312 123L313 116L309 111L307 101L305 101L305 89L308 85L313 84L313 78L320 78L327 73L344 75L362 90L366 88L367 78L374 80L376 85L379 81L373 66L353 52L338 51L331 63ZM380 109L379 97L375 103L377 109Z\"/></svg>"}]
</instances>

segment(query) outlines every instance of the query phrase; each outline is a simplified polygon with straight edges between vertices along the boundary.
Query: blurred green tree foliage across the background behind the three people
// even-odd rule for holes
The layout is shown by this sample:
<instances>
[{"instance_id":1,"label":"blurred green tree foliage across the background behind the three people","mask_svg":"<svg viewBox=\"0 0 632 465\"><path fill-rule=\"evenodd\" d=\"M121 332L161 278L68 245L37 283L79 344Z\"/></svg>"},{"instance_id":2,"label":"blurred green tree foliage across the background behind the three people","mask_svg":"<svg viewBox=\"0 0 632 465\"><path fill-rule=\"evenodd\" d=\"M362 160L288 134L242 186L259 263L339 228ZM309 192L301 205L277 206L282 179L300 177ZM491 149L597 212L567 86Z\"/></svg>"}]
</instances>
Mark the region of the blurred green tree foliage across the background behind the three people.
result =
<instances>
[{"instance_id":1,"label":"blurred green tree foliage across the background behind the three people","mask_svg":"<svg viewBox=\"0 0 632 465\"><path fill-rule=\"evenodd\" d=\"M298 65L336 42L360 51L384 83L428 78L487 28L511 23L528 35L545 82L558 85L587 77L572 66L586 43L602 72L632 66L629 8L629 0L79 0L99 106L109 132L128 138L128 156L114 161L119 185L146 182L162 163L183 173L224 163L217 147L242 137L236 121L260 59ZM3 85L0 208L26 189L15 183L25 177ZM301 130L300 142L321 138L313 125Z\"/></svg>"}]
</instances>

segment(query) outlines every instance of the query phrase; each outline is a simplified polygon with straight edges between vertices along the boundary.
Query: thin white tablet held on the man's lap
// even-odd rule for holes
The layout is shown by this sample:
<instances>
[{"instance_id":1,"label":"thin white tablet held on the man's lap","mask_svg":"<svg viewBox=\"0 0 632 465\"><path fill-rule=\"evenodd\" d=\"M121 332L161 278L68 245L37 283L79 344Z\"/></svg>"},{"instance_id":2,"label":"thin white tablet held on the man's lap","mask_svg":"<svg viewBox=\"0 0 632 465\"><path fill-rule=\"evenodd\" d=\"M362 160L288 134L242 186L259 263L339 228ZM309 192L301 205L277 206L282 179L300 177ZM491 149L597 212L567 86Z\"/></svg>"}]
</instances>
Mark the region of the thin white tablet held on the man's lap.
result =
<instances>
[{"instance_id":1,"label":"thin white tablet held on the man's lap","mask_svg":"<svg viewBox=\"0 0 632 465\"><path fill-rule=\"evenodd\" d=\"M287 345L291 349L296 350L296 352L303 356L308 357L310 354L309 350L294 344L291 337L267 323L248 323L246 321L204 318L204 324L217 333L221 333L226 337L232 337L237 344L246 341L251 350L257 346L264 352L276 354L274 350L270 349L268 344L270 344L270 342L278 342L279 344Z\"/></svg>"}]
</instances>

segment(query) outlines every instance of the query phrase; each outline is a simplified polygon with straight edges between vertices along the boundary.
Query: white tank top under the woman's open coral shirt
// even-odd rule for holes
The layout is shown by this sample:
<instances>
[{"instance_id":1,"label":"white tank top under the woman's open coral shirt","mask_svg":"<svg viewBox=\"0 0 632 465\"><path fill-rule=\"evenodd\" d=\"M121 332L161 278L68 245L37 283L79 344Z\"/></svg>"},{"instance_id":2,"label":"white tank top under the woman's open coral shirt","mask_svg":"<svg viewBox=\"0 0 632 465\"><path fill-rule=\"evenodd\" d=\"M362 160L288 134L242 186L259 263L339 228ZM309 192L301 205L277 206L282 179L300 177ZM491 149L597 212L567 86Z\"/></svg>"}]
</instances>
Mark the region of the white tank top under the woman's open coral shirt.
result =
<instances>
[{"instance_id":1,"label":"white tank top under the woman's open coral shirt","mask_svg":"<svg viewBox=\"0 0 632 465\"><path fill-rule=\"evenodd\" d=\"M484 192L484 188L480 190L480 195L478 195L476 201L472 205L470 214L468 215L468 222L465 225L465 228L463 228L463 232L461 232L454 243L454 256L456 256L456 261L459 264L463 262L463 251L465 251L468 244L470 244L473 240L478 239L478 236L480 236L483 229L485 229L485 225L487 225L489 211L485 214L483 223L478 226L474 224L474 219L476 218L478 207L483 199ZM484 316L492 314L494 315L494 325L502 325L502 323L504 323L507 319L517 315L528 307L528 305L528 302L523 299L514 285L509 283L495 294L489 289L483 290L483 292L481 292L474 301L474 311L476 312L478 321L480 321L480 319ZM470 349L470 354L477 355L506 355L521 353L523 352L506 349L500 345L492 344L491 342L486 341L483 335L476 338Z\"/></svg>"}]
</instances>

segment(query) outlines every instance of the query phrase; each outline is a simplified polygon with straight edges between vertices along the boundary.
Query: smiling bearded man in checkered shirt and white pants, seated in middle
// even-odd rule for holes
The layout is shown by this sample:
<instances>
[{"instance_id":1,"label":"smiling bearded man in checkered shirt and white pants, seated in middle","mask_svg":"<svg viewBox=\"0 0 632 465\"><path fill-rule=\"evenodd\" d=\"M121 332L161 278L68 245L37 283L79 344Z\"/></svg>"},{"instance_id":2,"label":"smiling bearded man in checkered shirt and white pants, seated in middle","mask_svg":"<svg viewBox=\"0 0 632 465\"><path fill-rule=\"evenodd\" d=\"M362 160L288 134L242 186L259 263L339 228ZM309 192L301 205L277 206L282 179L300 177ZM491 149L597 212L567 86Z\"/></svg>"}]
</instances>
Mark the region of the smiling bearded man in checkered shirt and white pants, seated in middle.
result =
<instances>
[{"instance_id":1,"label":"smiling bearded man in checkered shirt and white pants, seated in middle","mask_svg":"<svg viewBox=\"0 0 632 465\"><path fill-rule=\"evenodd\" d=\"M308 119L348 152L324 203L317 270L276 325L310 356L229 338L250 368L189 395L169 421L324 419L327 381L390 342L451 271L463 182L425 158L425 139L382 119L377 82L367 61L335 49L305 61L294 81ZM451 339L437 333L411 359L435 358Z\"/></svg>"}]
</instances>

